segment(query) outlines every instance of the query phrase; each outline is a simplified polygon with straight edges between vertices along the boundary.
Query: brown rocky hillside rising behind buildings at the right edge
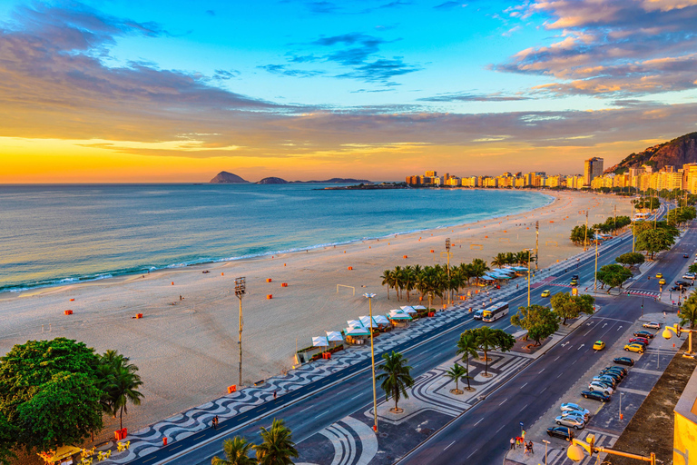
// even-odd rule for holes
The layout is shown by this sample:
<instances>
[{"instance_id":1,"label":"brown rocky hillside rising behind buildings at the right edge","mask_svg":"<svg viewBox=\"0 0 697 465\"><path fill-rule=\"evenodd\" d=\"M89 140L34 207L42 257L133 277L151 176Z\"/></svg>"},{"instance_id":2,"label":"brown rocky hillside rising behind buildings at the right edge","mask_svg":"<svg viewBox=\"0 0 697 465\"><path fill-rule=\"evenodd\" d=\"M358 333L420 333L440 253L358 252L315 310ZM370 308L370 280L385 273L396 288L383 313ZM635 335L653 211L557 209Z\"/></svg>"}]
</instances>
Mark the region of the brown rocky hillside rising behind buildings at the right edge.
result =
<instances>
[{"instance_id":1,"label":"brown rocky hillside rising behind buildings at the right edge","mask_svg":"<svg viewBox=\"0 0 697 465\"><path fill-rule=\"evenodd\" d=\"M658 171L663 166L682 168L685 163L697 163L697 133L682 135L670 142L653 145L640 153L632 153L622 162L611 166L605 173L624 173L628 168L638 168L643 164L653 166Z\"/></svg>"}]
</instances>

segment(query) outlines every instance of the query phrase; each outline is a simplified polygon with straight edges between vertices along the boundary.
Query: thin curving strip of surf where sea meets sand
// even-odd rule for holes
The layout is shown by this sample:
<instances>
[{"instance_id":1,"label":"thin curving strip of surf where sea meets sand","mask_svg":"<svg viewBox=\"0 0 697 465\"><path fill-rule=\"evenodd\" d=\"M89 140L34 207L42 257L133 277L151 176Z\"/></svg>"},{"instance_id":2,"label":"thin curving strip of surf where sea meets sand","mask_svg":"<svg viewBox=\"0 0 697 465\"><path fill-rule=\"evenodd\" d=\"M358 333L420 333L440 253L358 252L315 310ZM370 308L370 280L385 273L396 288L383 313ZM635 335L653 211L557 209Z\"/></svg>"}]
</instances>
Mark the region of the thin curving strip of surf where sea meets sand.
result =
<instances>
[{"instance_id":1,"label":"thin curving strip of surf where sea meets sand","mask_svg":"<svg viewBox=\"0 0 697 465\"><path fill-rule=\"evenodd\" d=\"M468 191L482 191L486 192L486 189L479 189L479 188L460 188L460 189L467 189ZM408 234L416 234L416 233L427 233L430 231L438 231L444 228L460 228L463 226L466 226L467 224L476 224L480 222L486 222L489 220L496 220L500 218L507 218L509 216L513 215L518 215L518 214L523 214L523 213L532 213L535 212L535 210L546 208L549 205L555 203L556 198L554 194L550 193L545 193L545 191L538 190L538 189L528 189L525 192L535 192L539 193L545 197L547 197L549 200L547 203L544 205L540 205L538 207L535 207L530 210L521 210L519 212L507 214L507 215L492 215L492 216L487 216L486 218L483 218L481 220L477 220L476 222L469 222L469 223L447 223L447 224L442 224L440 226L436 227L431 227L431 228L424 228L424 229L416 229L416 230L410 230L410 231L402 231L402 232L391 232L384 234L382 236L371 236L371 237L363 237L363 238L356 238L356 239L351 239L348 241L342 241L342 242L328 242L328 243L319 243L319 244L312 244L308 245L305 247L294 247L291 249L286 249L286 250L281 250L281 251L276 251L276 252L260 252L260 253L252 253L252 254L247 254L247 255L241 255L238 257L228 257L228 258L218 258L218 259L200 259L201 262L199 261L194 261L194 262L184 262L184 263L172 263L169 265L164 265L161 267L157 266L147 266L143 265L142 268L138 269L137 267L133 268L128 268L127 271L123 270L112 270L112 271L104 271L104 272L98 272L95 273L95 277L87 277L88 275L83 275L83 276L78 276L78 277L73 277L73 276L68 276L64 278L55 278L54 280L50 280L51 282L48 283L38 283L36 285L31 285L31 286L24 286L24 287L18 287L22 286L23 284L17 284L15 286L9 287L0 287L0 301L3 300L3 297L5 297L6 293L10 293L12 295L20 295L22 292L33 292L38 289L53 289L53 288L59 288L59 287L64 287L64 286L74 286L74 285L79 285L79 284L86 284L86 283L91 283L91 282L102 282L105 280L112 280L112 279L120 279L120 278L128 278L129 276L135 276L138 274L143 274L147 273L150 274L151 272L162 272L162 271L168 271L168 270L179 270L179 269L187 269L195 266L203 266L203 265L212 265L212 264L217 264L217 263L226 263L226 262L238 262L242 260L254 260L257 258L263 258L263 257L268 257L268 256L275 256L275 255L285 255L288 253L299 253L299 252L305 252L309 250L321 250L329 247L336 247L336 246L344 246L344 245L351 245L355 244L358 242L366 242L366 241L377 241L380 239L387 239L388 237L391 236L404 236ZM133 271L132 271L133 270Z\"/></svg>"}]
</instances>

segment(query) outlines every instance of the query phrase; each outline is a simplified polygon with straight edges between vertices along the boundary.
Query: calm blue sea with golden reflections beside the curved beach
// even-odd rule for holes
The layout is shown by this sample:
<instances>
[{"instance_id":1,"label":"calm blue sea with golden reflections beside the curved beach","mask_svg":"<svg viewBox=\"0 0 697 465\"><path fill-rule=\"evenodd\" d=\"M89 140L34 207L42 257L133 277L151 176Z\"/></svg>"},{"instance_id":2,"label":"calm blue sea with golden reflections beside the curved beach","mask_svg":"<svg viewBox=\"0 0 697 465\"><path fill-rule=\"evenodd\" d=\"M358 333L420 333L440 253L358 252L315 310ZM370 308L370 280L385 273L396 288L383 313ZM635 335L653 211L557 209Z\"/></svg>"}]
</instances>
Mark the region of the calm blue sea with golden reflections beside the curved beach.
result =
<instances>
[{"instance_id":1,"label":"calm blue sea with golden reflections beside the curved beach","mask_svg":"<svg viewBox=\"0 0 697 465\"><path fill-rule=\"evenodd\" d=\"M0 292L445 227L551 200L521 191L319 187L0 186Z\"/></svg>"}]
</instances>

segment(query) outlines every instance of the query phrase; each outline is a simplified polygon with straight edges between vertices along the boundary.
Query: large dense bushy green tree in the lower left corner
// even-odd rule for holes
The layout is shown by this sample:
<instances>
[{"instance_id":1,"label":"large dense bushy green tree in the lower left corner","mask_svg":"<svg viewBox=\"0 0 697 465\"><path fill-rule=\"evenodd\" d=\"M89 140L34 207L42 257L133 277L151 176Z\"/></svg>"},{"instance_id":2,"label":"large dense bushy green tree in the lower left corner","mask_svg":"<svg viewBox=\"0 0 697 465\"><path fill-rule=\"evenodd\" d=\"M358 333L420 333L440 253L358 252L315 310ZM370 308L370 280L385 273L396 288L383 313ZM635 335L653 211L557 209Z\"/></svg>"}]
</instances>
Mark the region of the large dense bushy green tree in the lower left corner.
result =
<instances>
[{"instance_id":1,"label":"large dense bushy green tree in the lower left corner","mask_svg":"<svg viewBox=\"0 0 697 465\"><path fill-rule=\"evenodd\" d=\"M56 338L15 345L0 357L0 419L9 424L0 443L42 451L102 430L98 365L99 357L83 342ZM56 414L56 406L65 410Z\"/></svg>"}]
</instances>

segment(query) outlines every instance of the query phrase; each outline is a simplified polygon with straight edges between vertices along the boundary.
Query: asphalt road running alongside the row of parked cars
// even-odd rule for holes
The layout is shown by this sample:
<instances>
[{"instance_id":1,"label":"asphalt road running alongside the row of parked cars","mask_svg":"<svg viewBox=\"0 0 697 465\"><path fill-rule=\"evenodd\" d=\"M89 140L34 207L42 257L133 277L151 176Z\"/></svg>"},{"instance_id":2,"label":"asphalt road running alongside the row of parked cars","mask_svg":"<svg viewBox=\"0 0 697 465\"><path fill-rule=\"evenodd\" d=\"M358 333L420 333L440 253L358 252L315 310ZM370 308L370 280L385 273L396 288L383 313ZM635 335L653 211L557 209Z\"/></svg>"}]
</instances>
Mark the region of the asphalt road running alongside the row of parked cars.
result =
<instances>
[{"instance_id":1,"label":"asphalt road running alongside the row of parked cars","mask_svg":"<svg viewBox=\"0 0 697 465\"><path fill-rule=\"evenodd\" d=\"M697 229L690 228L682 242L656 263L652 273L663 272L666 281L674 281L685 264L682 253L693 256L695 249ZM635 282L633 286L643 284L643 281ZM602 309L589 320L593 324L569 335L564 345L555 346L486 402L467 411L398 463L501 463L508 440L520 434L519 421L526 425L535 423L550 407L550 399L558 399L568 391L578 381L579 374L594 365L596 359L586 356L591 355L588 352L592 352L593 342L603 340L612 345L617 341L627 325L641 316L640 300L641 297L627 295L600 297L598 303ZM647 313L670 310L653 299L644 299L643 305L643 312Z\"/></svg>"}]
</instances>

